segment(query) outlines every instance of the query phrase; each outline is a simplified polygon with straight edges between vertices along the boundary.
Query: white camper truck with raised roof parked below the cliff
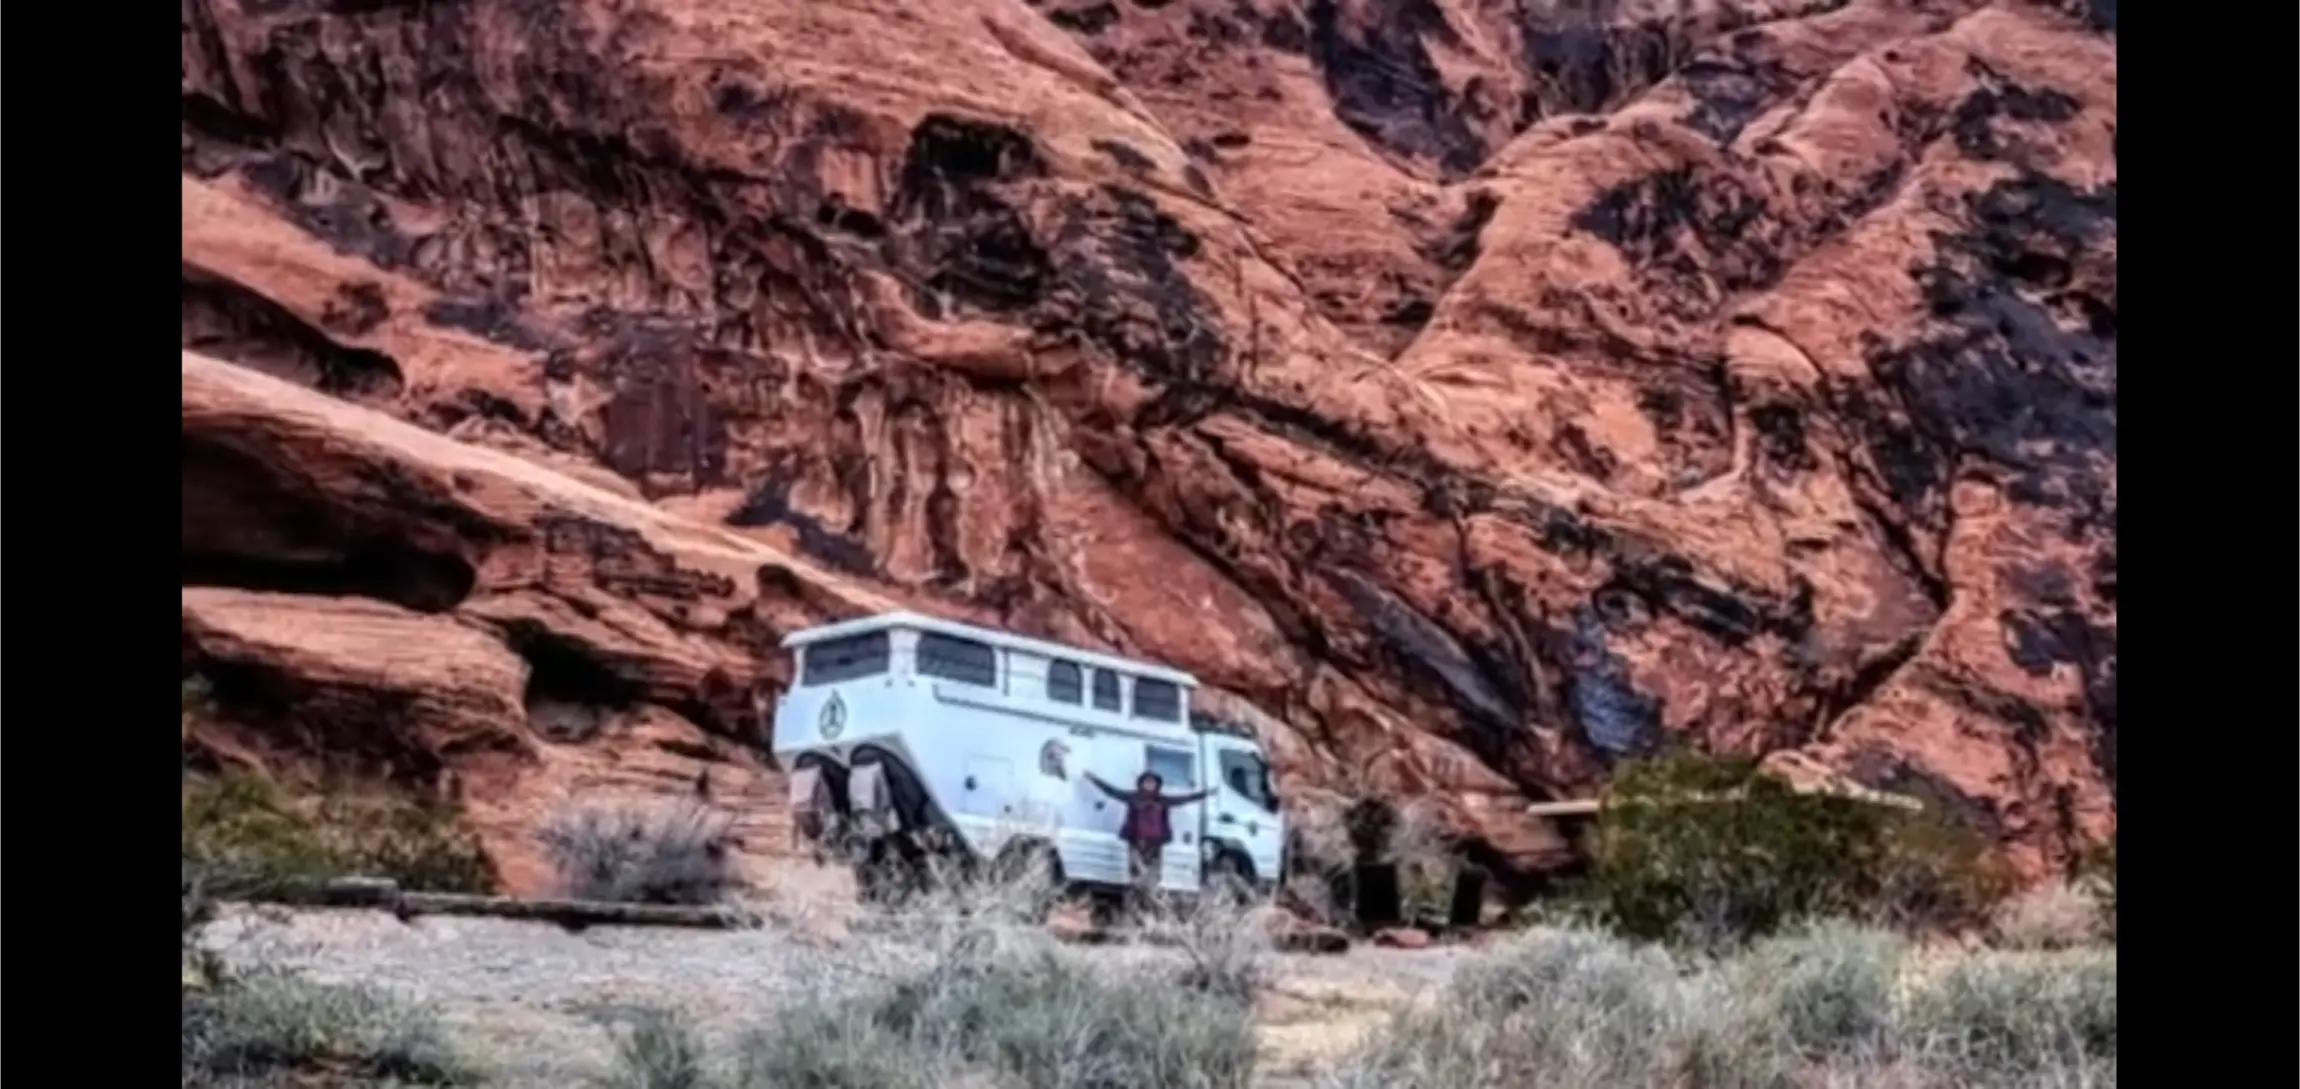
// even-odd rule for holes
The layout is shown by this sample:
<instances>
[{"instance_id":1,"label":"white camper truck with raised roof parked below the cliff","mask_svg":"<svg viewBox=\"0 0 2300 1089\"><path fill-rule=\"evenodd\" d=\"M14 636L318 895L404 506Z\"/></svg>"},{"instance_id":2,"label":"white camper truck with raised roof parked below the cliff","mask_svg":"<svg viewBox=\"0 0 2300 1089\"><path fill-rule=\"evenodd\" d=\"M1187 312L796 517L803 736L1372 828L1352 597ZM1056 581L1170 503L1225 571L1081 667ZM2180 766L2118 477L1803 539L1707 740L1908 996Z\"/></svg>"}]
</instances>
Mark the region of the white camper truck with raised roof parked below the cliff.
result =
<instances>
[{"instance_id":1,"label":"white camper truck with raised roof parked below the cliff","mask_svg":"<svg viewBox=\"0 0 2300 1089\"><path fill-rule=\"evenodd\" d=\"M1046 866L1056 886L1127 884L1125 806L1088 783L1157 771L1173 810L1159 886L1267 893L1286 827L1247 730L1194 716L1187 672L913 612L791 633L798 661L775 707L775 757L793 801L833 824L975 861ZM881 859L897 852L879 850Z\"/></svg>"}]
</instances>

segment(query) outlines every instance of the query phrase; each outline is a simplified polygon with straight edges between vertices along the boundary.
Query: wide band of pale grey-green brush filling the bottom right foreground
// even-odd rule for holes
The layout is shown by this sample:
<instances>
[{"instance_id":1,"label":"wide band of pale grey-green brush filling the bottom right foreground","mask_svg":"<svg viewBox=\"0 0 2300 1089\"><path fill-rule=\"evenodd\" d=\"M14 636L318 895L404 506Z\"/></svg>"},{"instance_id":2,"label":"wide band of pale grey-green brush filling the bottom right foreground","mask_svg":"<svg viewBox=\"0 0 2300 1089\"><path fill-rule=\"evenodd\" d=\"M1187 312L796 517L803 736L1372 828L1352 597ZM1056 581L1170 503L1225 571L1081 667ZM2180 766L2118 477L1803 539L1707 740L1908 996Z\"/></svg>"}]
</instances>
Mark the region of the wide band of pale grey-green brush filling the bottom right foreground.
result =
<instances>
[{"instance_id":1,"label":"wide band of pale grey-green brush filling the bottom right foreground","mask_svg":"<svg viewBox=\"0 0 2300 1089\"><path fill-rule=\"evenodd\" d=\"M1686 958L1534 930L1375 1029L1322 1089L2116 1084L2116 951L1927 965L1886 930L1787 930Z\"/></svg>"}]
</instances>

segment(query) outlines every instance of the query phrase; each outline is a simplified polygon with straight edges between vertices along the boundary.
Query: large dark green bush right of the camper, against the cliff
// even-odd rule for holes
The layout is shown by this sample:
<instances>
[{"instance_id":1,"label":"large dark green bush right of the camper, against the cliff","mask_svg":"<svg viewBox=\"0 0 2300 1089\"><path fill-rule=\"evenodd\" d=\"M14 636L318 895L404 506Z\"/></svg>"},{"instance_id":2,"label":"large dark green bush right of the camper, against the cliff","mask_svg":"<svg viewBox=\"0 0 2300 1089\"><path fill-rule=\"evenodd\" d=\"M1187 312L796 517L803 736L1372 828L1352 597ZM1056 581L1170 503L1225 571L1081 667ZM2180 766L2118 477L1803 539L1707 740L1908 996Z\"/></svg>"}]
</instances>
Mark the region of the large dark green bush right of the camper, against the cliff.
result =
<instances>
[{"instance_id":1,"label":"large dark green bush right of the camper, against the cliff","mask_svg":"<svg viewBox=\"0 0 2300 1089\"><path fill-rule=\"evenodd\" d=\"M1980 840L1937 817L1688 753L1615 776L1587 884L1624 932L1702 946L1812 916L1973 921L2001 891Z\"/></svg>"}]
</instances>

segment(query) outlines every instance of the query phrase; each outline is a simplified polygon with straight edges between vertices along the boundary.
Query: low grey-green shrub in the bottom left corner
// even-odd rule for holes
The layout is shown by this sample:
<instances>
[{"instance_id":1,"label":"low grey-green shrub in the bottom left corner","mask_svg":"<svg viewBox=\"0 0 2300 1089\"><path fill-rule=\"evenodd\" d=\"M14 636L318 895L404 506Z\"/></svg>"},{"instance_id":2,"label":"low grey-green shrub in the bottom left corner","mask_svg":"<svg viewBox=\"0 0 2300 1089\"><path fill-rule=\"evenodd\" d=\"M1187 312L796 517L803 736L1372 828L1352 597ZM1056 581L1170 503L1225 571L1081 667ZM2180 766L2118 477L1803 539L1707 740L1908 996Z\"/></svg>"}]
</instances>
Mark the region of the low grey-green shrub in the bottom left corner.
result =
<instances>
[{"instance_id":1,"label":"low grey-green shrub in the bottom left corner","mask_svg":"<svg viewBox=\"0 0 2300 1089\"><path fill-rule=\"evenodd\" d=\"M471 1084L437 1018L384 992L281 969L235 972L184 992L184 1084Z\"/></svg>"}]
</instances>

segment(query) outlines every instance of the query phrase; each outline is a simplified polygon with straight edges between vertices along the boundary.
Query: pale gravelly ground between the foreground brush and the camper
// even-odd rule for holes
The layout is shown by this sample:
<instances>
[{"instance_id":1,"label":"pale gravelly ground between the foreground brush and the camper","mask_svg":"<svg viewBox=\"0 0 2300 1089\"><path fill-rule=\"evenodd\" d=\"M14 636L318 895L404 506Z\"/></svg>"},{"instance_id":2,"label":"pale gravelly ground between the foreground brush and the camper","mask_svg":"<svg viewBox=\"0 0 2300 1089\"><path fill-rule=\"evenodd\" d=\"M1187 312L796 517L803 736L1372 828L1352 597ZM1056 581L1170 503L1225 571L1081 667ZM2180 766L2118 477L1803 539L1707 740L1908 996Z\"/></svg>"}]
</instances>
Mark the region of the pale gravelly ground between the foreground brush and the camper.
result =
<instances>
[{"instance_id":1,"label":"pale gravelly ground between the foreground brush and the camper","mask_svg":"<svg viewBox=\"0 0 2300 1089\"><path fill-rule=\"evenodd\" d=\"M402 923L370 909L232 907L209 926L207 944L225 962L285 965L430 1004L497 1084L566 1089L610 1064L612 1027L639 1008L683 1011L722 1050L791 1002L812 974L837 972L872 955L872 942L883 944L828 873L789 873L759 909L768 926L757 930L570 932L506 919ZM1125 967L1127 958L1180 953L1118 944L1079 955ZM1463 955L1447 946L1272 953L1260 1082L1309 1084L1309 1064L1343 1052L1382 1013L1444 983Z\"/></svg>"}]
</instances>

